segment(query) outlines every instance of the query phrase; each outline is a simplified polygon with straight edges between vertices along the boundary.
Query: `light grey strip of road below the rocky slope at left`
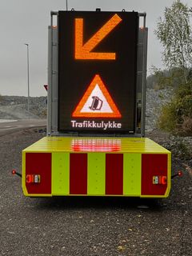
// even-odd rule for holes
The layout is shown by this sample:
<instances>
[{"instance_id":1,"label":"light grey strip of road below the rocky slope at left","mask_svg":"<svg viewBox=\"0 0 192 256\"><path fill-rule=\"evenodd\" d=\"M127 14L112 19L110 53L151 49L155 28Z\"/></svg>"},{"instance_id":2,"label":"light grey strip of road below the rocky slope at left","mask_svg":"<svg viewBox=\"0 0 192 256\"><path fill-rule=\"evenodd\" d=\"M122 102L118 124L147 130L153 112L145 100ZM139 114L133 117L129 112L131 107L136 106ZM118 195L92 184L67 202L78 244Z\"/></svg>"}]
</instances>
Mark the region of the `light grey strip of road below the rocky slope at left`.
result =
<instances>
[{"instance_id":1,"label":"light grey strip of road below the rocky slope at left","mask_svg":"<svg viewBox=\"0 0 192 256\"><path fill-rule=\"evenodd\" d=\"M0 119L0 136L16 130L46 126L46 119L3 120Z\"/></svg>"}]
</instances>

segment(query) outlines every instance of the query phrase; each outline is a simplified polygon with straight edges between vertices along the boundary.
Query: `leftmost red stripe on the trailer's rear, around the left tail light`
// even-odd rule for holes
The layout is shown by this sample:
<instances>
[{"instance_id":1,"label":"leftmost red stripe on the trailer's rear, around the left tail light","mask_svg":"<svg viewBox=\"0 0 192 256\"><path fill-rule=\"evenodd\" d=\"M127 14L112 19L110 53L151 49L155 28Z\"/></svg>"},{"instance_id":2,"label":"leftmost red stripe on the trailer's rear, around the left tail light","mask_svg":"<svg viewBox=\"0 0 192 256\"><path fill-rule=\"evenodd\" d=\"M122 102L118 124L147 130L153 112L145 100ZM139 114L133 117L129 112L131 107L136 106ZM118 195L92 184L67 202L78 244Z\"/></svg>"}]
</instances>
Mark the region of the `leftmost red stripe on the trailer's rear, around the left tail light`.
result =
<instances>
[{"instance_id":1,"label":"leftmost red stripe on the trailer's rear, around the left tail light","mask_svg":"<svg viewBox=\"0 0 192 256\"><path fill-rule=\"evenodd\" d=\"M26 153L26 176L39 174L40 183L31 183L33 177L29 176L30 183L26 182L29 194L51 194L51 153Z\"/></svg>"}]
</instances>

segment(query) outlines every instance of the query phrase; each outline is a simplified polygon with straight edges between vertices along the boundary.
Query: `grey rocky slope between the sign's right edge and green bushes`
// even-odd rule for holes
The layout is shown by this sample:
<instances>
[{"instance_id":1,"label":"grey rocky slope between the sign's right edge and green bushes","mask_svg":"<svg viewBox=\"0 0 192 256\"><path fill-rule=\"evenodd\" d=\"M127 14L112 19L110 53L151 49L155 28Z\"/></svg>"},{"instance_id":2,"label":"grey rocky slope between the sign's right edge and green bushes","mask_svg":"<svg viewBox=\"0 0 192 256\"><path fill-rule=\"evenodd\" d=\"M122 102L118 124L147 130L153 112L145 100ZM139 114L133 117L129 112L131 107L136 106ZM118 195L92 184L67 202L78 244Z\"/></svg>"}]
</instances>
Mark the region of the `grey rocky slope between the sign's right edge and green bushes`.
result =
<instances>
[{"instance_id":1,"label":"grey rocky slope between the sign's right edge and green bushes","mask_svg":"<svg viewBox=\"0 0 192 256\"><path fill-rule=\"evenodd\" d=\"M166 103L170 102L173 95L172 88L163 90L146 90L146 130L154 130L157 128L157 121L161 108Z\"/></svg>"}]
</instances>

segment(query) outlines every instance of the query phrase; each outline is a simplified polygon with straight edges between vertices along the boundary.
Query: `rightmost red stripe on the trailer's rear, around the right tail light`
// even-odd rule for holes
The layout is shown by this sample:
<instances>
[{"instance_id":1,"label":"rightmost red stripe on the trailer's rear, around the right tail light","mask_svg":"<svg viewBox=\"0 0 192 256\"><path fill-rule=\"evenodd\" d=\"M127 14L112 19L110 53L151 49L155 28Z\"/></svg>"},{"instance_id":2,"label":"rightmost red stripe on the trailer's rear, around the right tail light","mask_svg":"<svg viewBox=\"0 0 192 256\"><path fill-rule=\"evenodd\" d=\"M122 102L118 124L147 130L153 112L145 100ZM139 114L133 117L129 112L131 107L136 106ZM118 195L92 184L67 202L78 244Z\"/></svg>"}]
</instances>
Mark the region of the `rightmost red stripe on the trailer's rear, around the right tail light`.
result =
<instances>
[{"instance_id":1,"label":"rightmost red stripe on the trailer's rear, around the right tail light","mask_svg":"<svg viewBox=\"0 0 192 256\"><path fill-rule=\"evenodd\" d=\"M167 154L142 154L142 195L163 195L165 184L153 184L154 176L167 176Z\"/></svg>"}]
</instances>

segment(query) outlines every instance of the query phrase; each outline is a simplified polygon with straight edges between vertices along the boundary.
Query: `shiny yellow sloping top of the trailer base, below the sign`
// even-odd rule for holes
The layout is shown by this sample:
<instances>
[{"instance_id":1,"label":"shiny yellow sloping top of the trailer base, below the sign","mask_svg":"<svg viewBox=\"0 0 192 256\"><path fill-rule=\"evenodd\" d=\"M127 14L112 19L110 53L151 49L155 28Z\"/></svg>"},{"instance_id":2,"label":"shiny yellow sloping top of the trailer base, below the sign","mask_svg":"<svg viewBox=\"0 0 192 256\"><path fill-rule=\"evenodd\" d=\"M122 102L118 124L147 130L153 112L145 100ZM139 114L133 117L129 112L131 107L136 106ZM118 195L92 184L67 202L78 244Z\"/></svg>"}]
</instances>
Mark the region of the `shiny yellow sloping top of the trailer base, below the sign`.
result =
<instances>
[{"instance_id":1,"label":"shiny yellow sloping top of the trailer base, below the sign","mask_svg":"<svg viewBox=\"0 0 192 256\"><path fill-rule=\"evenodd\" d=\"M153 142L150 138L106 138L106 137L45 137L27 147L24 152L74 152L75 145L89 142L90 148L81 148L79 152L118 152L118 153L145 153L168 154L169 150ZM94 146L96 143L96 147ZM101 144L101 146L99 146ZM92 145L92 146L91 146Z\"/></svg>"}]
</instances>

